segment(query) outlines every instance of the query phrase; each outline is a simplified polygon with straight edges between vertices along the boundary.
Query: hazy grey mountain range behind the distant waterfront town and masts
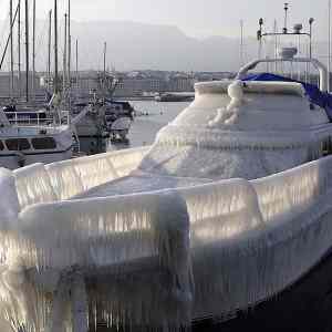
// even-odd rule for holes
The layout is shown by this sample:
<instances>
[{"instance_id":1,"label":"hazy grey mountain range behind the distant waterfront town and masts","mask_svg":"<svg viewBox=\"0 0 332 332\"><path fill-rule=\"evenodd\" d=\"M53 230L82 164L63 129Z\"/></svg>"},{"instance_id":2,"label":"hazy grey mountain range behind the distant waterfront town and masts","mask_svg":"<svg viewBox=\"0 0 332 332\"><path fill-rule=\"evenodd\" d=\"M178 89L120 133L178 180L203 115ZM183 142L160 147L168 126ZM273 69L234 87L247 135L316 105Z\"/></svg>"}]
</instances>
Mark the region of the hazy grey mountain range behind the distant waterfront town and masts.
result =
<instances>
[{"instance_id":1,"label":"hazy grey mountain range behind the distant waterfront town and masts","mask_svg":"<svg viewBox=\"0 0 332 332\"><path fill-rule=\"evenodd\" d=\"M60 37L63 37L62 25L60 22ZM38 70L46 68L46 27L45 21L38 22ZM80 70L102 69L104 42L107 42L107 65L118 71L237 71L240 64L238 39L210 37L199 40L172 25L129 21L72 22L73 62L76 39ZM317 51L323 54L324 49L322 43ZM59 50L63 50L62 41ZM257 56L257 50L256 39L246 39L243 61Z\"/></svg>"}]
</instances>

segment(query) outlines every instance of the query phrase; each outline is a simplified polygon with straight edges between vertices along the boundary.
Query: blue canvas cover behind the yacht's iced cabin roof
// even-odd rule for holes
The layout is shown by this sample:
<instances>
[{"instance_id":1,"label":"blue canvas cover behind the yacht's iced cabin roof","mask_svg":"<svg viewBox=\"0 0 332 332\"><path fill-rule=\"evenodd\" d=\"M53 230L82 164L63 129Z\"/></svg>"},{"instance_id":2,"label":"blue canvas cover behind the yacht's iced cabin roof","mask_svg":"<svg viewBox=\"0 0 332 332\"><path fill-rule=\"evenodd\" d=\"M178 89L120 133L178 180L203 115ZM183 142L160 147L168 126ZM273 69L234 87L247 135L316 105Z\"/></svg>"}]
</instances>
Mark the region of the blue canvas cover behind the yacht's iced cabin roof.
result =
<instances>
[{"instance_id":1,"label":"blue canvas cover behind the yacht's iced cabin roof","mask_svg":"<svg viewBox=\"0 0 332 332\"><path fill-rule=\"evenodd\" d=\"M330 122L332 122L332 94L328 92L322 92L314 84L309 84L305 82L292 80L289 77L270 74L270 73L260 73L260 74L248 74L242 81L267 81L267 82L297 82L301 83L305 90L305 95L308 100L314 104L323 107L329 116Z\"/></svg>"}]
</instances>

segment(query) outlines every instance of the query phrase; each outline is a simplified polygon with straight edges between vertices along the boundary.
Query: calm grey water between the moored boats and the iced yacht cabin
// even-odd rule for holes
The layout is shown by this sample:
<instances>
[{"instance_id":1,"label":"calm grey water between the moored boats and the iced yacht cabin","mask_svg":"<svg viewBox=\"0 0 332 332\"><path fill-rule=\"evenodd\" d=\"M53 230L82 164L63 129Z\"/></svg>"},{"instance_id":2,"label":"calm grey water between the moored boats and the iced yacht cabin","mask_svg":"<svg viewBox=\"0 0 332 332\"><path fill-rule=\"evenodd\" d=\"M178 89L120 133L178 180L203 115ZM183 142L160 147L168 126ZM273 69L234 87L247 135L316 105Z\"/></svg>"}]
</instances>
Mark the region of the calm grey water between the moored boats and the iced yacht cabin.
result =
<instances>
[{"instance_id":1,"label":"calm grey water between the moored boats and the iced yacht cabin","mask_svg":"<svg viewBox=\"0 0 332 332\"><path fill-rule=\"evenodd\" d=\"M167 123L173 121L189 103L158 103L155 101L133 101L131 104L137 113L143 115L136 116L128 134L128 144L111 144L107 142L107 149L122 149L151 145L155 141L157 132Z\"/></svg>"}]
</instances>

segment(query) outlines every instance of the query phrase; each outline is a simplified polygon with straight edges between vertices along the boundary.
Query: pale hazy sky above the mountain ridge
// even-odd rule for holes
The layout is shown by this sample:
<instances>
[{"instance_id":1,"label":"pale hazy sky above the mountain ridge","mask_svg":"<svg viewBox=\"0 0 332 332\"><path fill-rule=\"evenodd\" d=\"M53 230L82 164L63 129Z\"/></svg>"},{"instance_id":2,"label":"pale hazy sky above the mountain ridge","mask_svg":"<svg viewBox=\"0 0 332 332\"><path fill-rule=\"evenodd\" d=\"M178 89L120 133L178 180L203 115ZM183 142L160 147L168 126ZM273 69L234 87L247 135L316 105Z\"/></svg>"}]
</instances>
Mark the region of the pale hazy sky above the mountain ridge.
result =
<instances>
[{"instance_id":1,"label":"pale hazy sky above the mountain ridge","mask_svg":"<svg viewBox=\"0 0 332 332\"><path fill-rule=\"evenodd\" d=\"M8 12L10 0L0 0L0 19ZM17 3L18 0L13 0ZM24 0L21 0L24 2ZM59 0L62 15L68 0ZM255 35L257 21L266 19L267 27L277 19L283 24L283 2L280 0L72 0L72 18L89 20L131 20L145 23L177 25L194 37L239 35L242 19L247 35ZM328 0L292 0L290 24L315 18L314 32L326 39ZM32 6L32 0L29 0ZM44 19L53 0L37 0L38 18Z\"/></svg>"}]
</instances>

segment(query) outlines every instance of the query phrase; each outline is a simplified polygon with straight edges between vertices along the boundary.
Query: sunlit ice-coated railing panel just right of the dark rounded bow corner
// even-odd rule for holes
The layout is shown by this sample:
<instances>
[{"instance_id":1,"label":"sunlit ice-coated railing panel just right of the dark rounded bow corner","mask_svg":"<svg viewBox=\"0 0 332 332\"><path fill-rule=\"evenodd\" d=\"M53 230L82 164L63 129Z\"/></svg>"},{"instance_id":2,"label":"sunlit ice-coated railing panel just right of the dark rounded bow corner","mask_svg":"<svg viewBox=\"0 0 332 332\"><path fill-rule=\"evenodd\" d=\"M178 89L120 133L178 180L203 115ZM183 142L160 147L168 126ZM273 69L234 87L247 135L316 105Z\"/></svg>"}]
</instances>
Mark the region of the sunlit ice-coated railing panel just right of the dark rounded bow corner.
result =
<instances>
[{"instance_id":1,"label":"sunlit ice-coated railing panel just right of the dark rounded bow corner","mask_svg":"<svg viewBox=\"0 0 332 332\"><path fill-rule=\"evenodd\" d=\"M221 180L176 190L186 201L190 237L201 246L263 227L256 191L245 179ZM210 225L207 231L207 225Z\"/></svg>"}]
</instances>

